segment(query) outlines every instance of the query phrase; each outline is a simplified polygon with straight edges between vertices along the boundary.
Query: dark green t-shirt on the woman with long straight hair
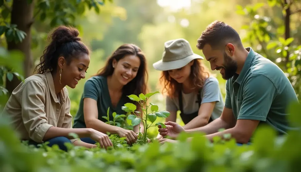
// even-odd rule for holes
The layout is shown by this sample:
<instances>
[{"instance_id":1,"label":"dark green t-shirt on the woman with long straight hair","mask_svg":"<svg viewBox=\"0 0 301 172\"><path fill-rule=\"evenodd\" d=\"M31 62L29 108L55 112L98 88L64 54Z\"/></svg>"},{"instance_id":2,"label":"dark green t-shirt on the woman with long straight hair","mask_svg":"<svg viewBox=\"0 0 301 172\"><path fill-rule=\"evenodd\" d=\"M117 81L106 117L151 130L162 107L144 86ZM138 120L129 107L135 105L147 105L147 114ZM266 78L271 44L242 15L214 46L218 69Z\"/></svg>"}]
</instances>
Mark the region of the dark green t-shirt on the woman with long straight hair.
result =
<instances>
[{"instance_id":1,"label":"dark green t-shirt on the woman with long straight hair","mask_svg":"<svg viewBox=\"0 0 301 172\"><path fill-rule=\"evenodd\" d=\"M111 103L111 98L109 94L108 84L107 84L107 77L103 76L94 76L89 78L85 82L84 91L82 93L82 98L80 99L79 109L76 113L76 117L74 118L73 128L86 128L85 120L84 120L84 111L83 111L83 99L84 98L91 98L97 101L97 108L98 108L98 119L106 122L107 120L104 119L102 116L107 116L108 107L109 110L109 117L110 120L113 120L112 113L116 112L117 114L126 114L125 111L121 109L124 104L132 101L123 94L114 108Z\"/></svg>"}]
</instances>

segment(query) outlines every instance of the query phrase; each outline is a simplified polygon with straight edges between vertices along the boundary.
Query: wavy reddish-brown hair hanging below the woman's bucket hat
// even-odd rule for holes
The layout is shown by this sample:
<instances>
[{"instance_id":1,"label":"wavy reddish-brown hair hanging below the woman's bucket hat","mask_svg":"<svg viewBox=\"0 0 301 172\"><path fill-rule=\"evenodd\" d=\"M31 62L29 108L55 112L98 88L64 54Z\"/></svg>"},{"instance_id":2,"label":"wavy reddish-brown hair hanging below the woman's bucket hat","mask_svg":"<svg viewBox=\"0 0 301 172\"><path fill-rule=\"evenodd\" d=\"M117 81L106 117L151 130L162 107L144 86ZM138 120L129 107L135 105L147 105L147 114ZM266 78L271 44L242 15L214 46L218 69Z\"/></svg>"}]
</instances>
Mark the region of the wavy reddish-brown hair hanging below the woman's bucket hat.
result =
<instances>
[{"instance_id":1,"label":"wavy reddish-brown hair hanging below the woman's bucket hat","mask_svg":"<svg viewBox=\"0 0 301 172\"><path fill-rule=\"evenodd\" d=\"M209 76L210 72L208 68L201 63L199 59L195 59L191 65L191 73L189 76L191 89L202 88L205 80ZM162 87L162 93L167 93L167 96L171 98L177 97L178 92L182 89L182 84L170 77L168 71L161 72L160 85Z\"/></svg>"}]
</instances>

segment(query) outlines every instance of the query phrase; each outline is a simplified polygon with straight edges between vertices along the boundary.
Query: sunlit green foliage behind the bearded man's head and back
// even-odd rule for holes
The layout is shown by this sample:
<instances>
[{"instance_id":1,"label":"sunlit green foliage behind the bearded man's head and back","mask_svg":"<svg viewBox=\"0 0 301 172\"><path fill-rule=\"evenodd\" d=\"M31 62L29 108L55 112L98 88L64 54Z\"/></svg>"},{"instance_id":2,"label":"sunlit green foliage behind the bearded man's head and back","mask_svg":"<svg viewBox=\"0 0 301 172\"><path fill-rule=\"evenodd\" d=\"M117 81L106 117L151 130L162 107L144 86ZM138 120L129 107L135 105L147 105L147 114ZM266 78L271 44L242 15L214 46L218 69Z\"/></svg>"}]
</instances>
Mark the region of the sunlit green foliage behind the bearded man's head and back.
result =
<instances>
[{"instance_id":1,"label":"sunlit green foliage behind the bearded man's head and back","mask_svg":"<svg viewBox=\"0 0 301 172\"><path fill-rule=\"evenodd\" d=\"M285 4L281 0L268 0L268 5L275 7L277 11L278 9L283 11L283 14L278 17L267 12L266 14L268 15L265 16L262 12L259 12L263 10L263 3L245 7L237 5L237 14L244 16L247 20L247 24L242 27L242 29L247 31L243 41L249 42L253 48L259 47L256 52L277 64L287 74L296 94L300 95L301 42L298 39L294 39L299 35L297 33L296 36L291 35L290 30L293 29L290 23L284 21L287 15L285 10L292 4ZM285 39L286 35L291 36Z\"/></svg>"}]
</instances>

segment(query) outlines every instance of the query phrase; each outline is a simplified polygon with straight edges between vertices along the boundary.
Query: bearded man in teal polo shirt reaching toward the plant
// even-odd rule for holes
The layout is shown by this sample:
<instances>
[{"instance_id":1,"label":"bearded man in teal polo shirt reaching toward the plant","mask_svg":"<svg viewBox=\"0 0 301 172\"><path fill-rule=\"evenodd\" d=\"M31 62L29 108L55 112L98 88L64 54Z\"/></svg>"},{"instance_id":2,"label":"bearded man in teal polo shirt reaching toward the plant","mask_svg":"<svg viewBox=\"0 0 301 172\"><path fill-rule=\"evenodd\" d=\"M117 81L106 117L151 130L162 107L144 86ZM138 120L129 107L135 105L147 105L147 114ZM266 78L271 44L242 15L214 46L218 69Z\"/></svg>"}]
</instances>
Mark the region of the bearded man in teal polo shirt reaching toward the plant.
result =
<instances>
[{"instance_id":1,"label":"bearded man in teal polo shirt reaching toward the plant","mask_svg":"<svg viewBox=\"0 0 301 172\"><path fill-rule=\"evenodd\" d=\"M212 141L213 137L229 133L238 144L252 143L257 127L268 125L279 135L296 128L288 122L287 108L298 103L297 95L284 74L272 61L244 48L238 33L222 21L209 24L197 40L212 70L220 70L226 80L225 107L221 117L210 124L185 130L172 122L166 129L159 127L160 135L175 138L181 132L201 132ZM218 131L224 128L223 131ZM175 142L161 139L159 142Z\"/></svg>"}]
</instances>

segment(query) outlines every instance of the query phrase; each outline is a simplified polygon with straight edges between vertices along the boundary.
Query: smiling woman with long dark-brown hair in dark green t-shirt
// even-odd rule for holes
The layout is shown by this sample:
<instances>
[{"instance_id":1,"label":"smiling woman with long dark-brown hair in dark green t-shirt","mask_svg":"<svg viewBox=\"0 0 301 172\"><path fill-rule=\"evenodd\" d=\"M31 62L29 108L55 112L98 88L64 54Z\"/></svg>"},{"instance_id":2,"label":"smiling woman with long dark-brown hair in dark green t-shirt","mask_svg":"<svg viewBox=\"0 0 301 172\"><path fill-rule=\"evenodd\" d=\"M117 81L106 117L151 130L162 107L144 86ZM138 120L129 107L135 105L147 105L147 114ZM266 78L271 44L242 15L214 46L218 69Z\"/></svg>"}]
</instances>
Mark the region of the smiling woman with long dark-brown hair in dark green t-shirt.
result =
<instances>
[{"instance_id":1,"label":"smiling woman with long dark-brown hair in dark green t-shirt","mask_svg":"<svg viewBox=\"0 0 301 172\"><path fill-rule=\"evenodd\" d=\"M133 130L127 130L121 126L106 124L107 119L103 117L107 117L109 111L109 120L113 121L113 112L125 114L122 106L128 102L133 103L128 95L146 94L147 77L146 60L141 49L134 44L119 46L107 59L105 66L85 82L73 127L89 127L103 133L118 134L126 137L129 145L135 143L139 126L143 133L142 122L133 127ZM138 103L136 106L136 111L142 114Z\"/></svg>"}]
</instances>

